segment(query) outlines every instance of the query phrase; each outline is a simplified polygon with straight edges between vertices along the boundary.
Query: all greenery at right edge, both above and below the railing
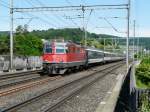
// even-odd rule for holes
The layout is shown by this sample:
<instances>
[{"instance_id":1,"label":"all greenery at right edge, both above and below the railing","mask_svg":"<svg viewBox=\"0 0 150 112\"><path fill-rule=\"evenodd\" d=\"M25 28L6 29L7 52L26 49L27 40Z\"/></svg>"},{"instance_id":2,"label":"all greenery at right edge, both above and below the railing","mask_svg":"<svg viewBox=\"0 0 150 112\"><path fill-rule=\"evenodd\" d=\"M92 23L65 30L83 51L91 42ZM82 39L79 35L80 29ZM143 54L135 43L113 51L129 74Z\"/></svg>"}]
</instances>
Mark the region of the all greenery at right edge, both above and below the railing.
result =
<instances>
[{"instance_id":1,"label":"all greenery at right edge, both above and below the railing","mask_svg":"<svg viewBox=\"0 0 150 112\"><path fill-rule=\"evenodd\" d=\"M150 89L150 57L144 58L136 68L136 83L138 88ZM150 112L150 92L143 93L139 98L139 112Z\"/></svg>"}]
</instances>

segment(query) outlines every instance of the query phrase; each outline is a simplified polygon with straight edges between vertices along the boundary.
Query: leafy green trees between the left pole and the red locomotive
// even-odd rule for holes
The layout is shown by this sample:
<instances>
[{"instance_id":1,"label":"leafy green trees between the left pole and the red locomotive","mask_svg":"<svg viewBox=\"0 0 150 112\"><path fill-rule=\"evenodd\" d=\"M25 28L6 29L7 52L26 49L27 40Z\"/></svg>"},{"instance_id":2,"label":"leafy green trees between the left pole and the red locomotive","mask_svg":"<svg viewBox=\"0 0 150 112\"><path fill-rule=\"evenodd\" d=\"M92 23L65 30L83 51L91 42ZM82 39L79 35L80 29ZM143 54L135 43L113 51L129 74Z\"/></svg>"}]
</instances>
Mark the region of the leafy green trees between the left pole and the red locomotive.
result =
<instances>
[{"instance_id":1,"label":"leafy green trees between the left pole and the red locomotive","mask_svg":"<svg viewBox=\"0 0 150 112\"><path fill-rule=\"evenodd\" d=\"M40 38L28 33L27 26L18 26L14 38L16 55L41 55L42 41Z\"/></svg>"}]
</instances>

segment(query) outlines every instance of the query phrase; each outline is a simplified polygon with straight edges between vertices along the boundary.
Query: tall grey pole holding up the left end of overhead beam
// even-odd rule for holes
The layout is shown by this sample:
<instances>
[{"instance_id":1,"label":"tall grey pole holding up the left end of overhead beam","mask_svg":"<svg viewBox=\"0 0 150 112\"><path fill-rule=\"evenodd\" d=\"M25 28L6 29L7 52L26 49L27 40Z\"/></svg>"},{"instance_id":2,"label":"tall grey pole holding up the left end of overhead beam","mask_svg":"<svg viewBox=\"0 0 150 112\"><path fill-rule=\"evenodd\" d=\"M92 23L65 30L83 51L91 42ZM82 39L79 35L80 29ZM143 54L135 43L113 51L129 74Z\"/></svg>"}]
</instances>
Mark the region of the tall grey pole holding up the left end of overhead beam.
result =
<instances>
[{"instance_id":1,"label":"tall grey pole holding up the left end of overhead beam","mask_svg":"<svg viewBox=\"0 0 150 112\"><path fill-rule=\"evenodd\" d=\"M10 70L13 70L13 0L10 0Z\"/></svg>"}]
</instances>

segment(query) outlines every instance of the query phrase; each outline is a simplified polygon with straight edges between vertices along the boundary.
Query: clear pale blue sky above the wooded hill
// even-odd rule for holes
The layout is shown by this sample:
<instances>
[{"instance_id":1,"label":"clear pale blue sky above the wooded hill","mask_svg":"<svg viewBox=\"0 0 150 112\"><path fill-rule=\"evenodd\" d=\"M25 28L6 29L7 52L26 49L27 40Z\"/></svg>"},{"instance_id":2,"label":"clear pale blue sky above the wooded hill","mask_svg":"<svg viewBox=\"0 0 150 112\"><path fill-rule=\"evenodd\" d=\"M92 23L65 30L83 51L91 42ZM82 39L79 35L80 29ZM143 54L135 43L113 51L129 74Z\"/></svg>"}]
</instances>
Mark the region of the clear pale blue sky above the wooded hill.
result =
<instances>
[{"instance_id":1,"label":"clear pale blue sky above the wooded hill","mask_svg":"<svg viewBox=\"0 0 150 112\"><path fill-rule=\"evenodd\" d=\"M118 5L128 0L14 0L15 8L41 6L80 6L80 5ZM131 0L130 36L133 36L133 20L136 21L136 36L150 37L150 0ZM18 25L28 25L29 31L49 28L86 28L98 34L126 36L127 10L85 10L14 12L14 29ZM118 18L113 18L118 17ZM105 19L104 19L105 18ZM0 0L0 31L10 29L9 0Z\"/></svg>"}]
</instances>

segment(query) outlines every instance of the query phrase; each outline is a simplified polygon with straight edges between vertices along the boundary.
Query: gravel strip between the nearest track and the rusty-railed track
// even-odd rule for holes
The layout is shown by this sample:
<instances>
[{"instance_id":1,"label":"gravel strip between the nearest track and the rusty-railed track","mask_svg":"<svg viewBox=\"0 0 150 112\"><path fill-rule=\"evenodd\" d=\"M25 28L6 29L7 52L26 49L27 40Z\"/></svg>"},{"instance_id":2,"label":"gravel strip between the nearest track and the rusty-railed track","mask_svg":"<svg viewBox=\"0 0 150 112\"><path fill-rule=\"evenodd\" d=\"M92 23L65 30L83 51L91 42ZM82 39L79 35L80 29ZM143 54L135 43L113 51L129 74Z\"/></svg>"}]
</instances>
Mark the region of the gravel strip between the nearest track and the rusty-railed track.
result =
<instances>
[{"instance_id":1,"label":"gravel strip between the nearest track and the rusty-railed track","mask_svg":"<svg viewBox=\"0 0 150 112\"><path fill-rule=\"evenodd\" d=\"M13 93L13 94L8 95L8 96L0 97L0 102L1 102L0 103L0 109L3 110L7 107L13 106L13 105L18 104L20 102L23 102L27 99L30 99L30 98L34 97L34 96L38 96L38 95L40 95L40 94L42 94L46 91L49 91L50 89L52 89L54 87L62 85L64 83L68 82L68 81L78 79L78 78L83 77L85 75L91 74L96 69L103 69L103 68L105 68L106 66L109 66L109 65L110 64L105 65L105 66L96 67L96 68L94 68L94 70L89 69L88 71L76 73L74 75L69 75L69 76L61 78L59 80L56 80L56 81L50 81L50 82L47 82L45 84L37 85L36 87L32 87L32 88L29 88L29 89L26 89L26 90L23 90L23 91L20 91L20 92L17 92L17 93Z\"/></svg>"}]
</instances>

